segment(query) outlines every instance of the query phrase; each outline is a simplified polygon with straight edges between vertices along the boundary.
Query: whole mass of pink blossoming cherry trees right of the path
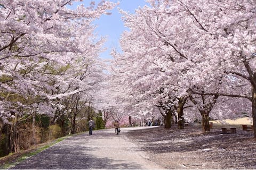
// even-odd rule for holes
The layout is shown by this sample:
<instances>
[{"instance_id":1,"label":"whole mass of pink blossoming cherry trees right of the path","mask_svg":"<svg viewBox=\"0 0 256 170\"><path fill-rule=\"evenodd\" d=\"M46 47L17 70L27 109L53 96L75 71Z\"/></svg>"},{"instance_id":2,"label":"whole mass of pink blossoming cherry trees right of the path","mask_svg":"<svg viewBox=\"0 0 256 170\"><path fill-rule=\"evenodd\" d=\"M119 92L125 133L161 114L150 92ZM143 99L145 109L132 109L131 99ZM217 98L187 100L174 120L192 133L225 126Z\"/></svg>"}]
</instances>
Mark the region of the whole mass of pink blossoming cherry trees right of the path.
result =
<instances>
[{"instance_id":1,"label":"whole mass of pink blossoming cherry trees right of the path","mask_svg":"<svg viewBox=\"0 0 256 170\"><path fill-rule=\"evenodd\" d=\"M113 50L109 84L119 112L161 113L165 127L252 113L256 124L256 3L148 0L123 13L129 30ZM158 110L158 112L157 112ZM256 126L254 126L256 137Z\"/></svg>"}]
</instances>

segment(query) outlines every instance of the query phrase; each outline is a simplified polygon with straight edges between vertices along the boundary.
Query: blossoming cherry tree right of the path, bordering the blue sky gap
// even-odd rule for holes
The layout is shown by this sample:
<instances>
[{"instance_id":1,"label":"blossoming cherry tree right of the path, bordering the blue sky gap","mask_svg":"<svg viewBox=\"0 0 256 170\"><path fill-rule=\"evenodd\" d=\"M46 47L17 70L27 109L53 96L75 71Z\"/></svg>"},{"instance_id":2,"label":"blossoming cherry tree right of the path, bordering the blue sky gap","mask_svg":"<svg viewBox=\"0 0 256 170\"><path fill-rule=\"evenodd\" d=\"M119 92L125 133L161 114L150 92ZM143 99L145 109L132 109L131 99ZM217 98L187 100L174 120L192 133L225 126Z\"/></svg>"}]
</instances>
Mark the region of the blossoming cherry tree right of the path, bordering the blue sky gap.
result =
<instances>
[{"instance_id":1,"label":"blossoming cherry tree right of the path, bordering the blue sky gap","mask_svg":"<svg viewBox=\"0 0 256 170\"><path fill-rule=\"evenodd\" d=\"M131 95L136 95L135 100L138 101L136 106L140 105L147 109L152 109L153 106L169 108L163 115L171 115L169 105L175 106L180 117L179 129L182 129L183 106L187 97L179 86L179 72L185 67L182 64L187 58L181 53L177 54L178 49L173 48L170 42L164 39L166 37L159 31L159 27L166 30L167 22L156 14L155 9L144 7L137 10L134 15L123 13L126 26L131 29L130 32L123 33L121 45L124 53L117 57L118 67L123 69L123 75L120 77L126 78L123 84L129 83ZM165 26L162 28L162 25ZM172 55L176 57L177 63L174 62ZM178 64L181 67L178 67ZM171 103L170 100L175 102ZM167 116L166 119L169 122L170 117ZM167 124L170 123L165 122L165 125Z\"/></svg>"}]
</instances>

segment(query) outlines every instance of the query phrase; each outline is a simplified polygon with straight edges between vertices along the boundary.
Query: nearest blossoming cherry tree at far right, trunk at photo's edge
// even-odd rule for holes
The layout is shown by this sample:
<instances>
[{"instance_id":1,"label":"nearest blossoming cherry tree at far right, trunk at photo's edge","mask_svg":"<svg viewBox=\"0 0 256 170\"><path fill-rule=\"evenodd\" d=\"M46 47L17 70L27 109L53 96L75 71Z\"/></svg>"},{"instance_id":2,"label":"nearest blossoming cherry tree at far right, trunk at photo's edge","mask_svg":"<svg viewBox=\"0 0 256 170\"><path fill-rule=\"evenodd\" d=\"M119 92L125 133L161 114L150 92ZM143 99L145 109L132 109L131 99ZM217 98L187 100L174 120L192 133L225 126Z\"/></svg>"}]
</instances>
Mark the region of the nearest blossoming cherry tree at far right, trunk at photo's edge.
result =
<instances>
[{"instance_id":1,"label":"nearest blossoming cherry tree at far right, trunk at photo's edge","mask_svg":"<svg viewBox=\"0 0 256 170\"><path fill-rule=\"evenodd\" d=\"M250 99L252 117L254 117L255 3L252 1L200 1L196 3L177 1L177 3L183 7L188 17L194 20L190 23L194 26L192 27L193 34L201 35L194 46L201 52L195 53L196 50L194 50L193 61L202 61L198 56L204 58L202 64L199 64L201 67L197 67L199 72L207 74L203 80L206 82L221 81L223 78L227 80L228 77L228 84L232 81L234 83L235 80L236 88L231 90L230 87L225 86L227 84L220 82L220 89L215 91L215 95ZM241 78L246 81L239 80ZM237 90L239 86L247 87L241 92ZM247 90L249 86L252 88L251 92ZM207 91L212 90L207 89ZM214 95L214 92L208 94ZM255 123L255 119L253 120Z\"/></svg>"}]
</instances>

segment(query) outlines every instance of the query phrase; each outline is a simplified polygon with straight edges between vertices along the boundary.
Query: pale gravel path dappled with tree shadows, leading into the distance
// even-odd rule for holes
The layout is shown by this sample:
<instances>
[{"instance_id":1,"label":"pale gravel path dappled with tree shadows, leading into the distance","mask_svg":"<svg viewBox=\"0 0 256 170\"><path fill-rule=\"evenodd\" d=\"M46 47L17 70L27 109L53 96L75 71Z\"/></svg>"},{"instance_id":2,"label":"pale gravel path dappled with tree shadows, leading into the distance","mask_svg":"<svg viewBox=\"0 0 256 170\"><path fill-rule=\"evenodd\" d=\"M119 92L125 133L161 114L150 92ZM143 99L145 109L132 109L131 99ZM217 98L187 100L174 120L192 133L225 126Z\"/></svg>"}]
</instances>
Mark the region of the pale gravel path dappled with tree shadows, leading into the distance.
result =
<instances>
[{"instance_id":1,"label":"pale gravel path dappled with tree shadows, leading into the distance","mask_svg":"<svg viewBox=\"0 0 256 170\"><path fill-rule=\"evenodd\" d=\"M150 127L146 127L150 128ZM125 133L141 128L93 131L65 139L12 167L13 169L162 169Z\"/></svg>"}]
</instances>

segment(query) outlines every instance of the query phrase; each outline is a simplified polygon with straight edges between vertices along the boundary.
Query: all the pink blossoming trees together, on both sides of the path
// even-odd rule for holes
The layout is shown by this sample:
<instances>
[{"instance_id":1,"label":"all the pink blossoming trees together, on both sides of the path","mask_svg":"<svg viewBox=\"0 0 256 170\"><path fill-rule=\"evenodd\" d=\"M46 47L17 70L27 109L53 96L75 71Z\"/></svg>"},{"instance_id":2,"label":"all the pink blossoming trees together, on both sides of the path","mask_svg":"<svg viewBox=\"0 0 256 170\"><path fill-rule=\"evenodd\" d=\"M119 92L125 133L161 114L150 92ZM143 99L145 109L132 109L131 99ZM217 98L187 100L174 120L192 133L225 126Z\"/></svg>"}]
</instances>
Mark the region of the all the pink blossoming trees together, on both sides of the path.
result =
<instances>
[{"instance_id":1,"label":"all the pink blossoming trees together, on both sides of the path","mask_svg":"<svg viewBox=\"0 0 256 170\"><path fill-rule=\"evenodd\" d=\"M6 154L22 149L23 134L35 139L57 124L61 135L76 133L91 116L99 127L125 115L137 121L162 115L165 128L175 118L179 129L185 120L201 119L204 132L209 116L252 112L256 123L254 0L148 0L135 14L121 11L129 30L108 73L98 58L104 39L92 21L116 4L67 8L73 2L0 3L0 137L6 139L0 145Z\"/></svg>"}]
</instances>

